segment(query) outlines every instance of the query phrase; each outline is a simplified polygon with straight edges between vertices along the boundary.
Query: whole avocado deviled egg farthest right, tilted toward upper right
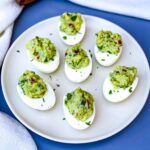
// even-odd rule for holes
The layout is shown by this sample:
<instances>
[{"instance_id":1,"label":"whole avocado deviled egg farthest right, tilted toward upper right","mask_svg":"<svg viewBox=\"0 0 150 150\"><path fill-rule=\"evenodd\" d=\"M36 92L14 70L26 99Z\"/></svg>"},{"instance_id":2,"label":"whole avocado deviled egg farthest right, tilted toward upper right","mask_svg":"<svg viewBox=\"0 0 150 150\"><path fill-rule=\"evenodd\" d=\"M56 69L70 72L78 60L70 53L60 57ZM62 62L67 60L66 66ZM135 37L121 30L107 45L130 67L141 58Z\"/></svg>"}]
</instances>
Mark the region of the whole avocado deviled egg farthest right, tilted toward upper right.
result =
<instances>
[{"instance_id":1,"label":"whole avocado deviled egg farthest right, tilted toward upper right","mask_svg":"<svg viewBox=\"0 0 150 150\"><path fill-rule=\"evenodd\" d=\"M134 92L137 84L135 67L116 66L104 81L104 97L110 102L121 102Z\"/></svg>"}]
</instances>

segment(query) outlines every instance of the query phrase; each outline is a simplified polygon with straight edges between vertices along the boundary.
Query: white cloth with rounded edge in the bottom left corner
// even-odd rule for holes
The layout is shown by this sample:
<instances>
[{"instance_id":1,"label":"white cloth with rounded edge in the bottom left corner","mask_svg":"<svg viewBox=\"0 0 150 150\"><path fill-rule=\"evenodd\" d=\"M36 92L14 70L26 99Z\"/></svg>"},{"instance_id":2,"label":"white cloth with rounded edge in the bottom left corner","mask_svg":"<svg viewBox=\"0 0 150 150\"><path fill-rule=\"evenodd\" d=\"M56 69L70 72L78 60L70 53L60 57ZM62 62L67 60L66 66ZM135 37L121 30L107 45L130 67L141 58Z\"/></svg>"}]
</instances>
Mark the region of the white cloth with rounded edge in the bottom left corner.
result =
<instances>
[{"instance_id":1,"label":"white cloth with rounded edge in the bottom left corner","mask_svg":"<svg viewBox=\"0 0 150 150\"><path fill-rule=\"evenodd\" d=\"M37 150L28 131L12 117L0 112L0 150Z\"/></svg>"}]
</instances>

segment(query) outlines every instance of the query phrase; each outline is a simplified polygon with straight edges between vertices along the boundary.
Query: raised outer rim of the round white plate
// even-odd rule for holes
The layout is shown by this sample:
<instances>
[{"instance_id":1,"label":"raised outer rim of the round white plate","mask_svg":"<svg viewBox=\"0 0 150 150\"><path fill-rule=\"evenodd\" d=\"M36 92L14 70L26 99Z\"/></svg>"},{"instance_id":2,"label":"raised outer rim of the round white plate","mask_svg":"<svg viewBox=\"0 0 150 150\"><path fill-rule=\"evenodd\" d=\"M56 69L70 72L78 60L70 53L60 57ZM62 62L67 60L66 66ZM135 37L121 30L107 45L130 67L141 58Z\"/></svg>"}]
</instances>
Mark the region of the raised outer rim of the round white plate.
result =
<instances>
[{"instance_id":1,"label":"raised outer rim of the round white plate","mask_svg":"<svg viewBox=\"0 0 150 150\"><path fill-rule=\"evenodd\" d=\"M149 66L149 62L148 62L148 59L145 55L145 52L143 50L143 48L140 46L140 44L136 41L136 39L130 34L128 33L124 28L120 27L119 25L117 25L116 23L113 23L112 21L109 21L107 19L104 19L104 18L101 18L101 17L98 17L98 16L93 16L93 15L86 15L86 14L82 14L84 17L87 17L87 18L95 18L95 19L100 19L100 20L103 20L105 22L108 22L108 23L111 23L115 26L117 26L117 28L123 30L130 38L133 42L135 42L137 44L137 46L140 48L140 51L141 53L143 54L143 56L145 57L146 59L146 64L148 65L148 70L150 72L150 66ZM26 127L28 128L29 130L31 130L32 132L36 133L37 135L40 135L46 139L49 139L49 140L52 140L52 141L55 141L55 142L60 142L60 143L68 143L68 144L84 144L84 143L91 143L91 142L96 142L96 141L100 141L100 140L104 140L106 138L109 138L109 137L112 137L113 135L119 133L120 131L122 131L123 129L125 129L128 125L130 125L135 119L136 117L139 115L139 113L141 112L141 110L143 109L147 99L148 99L148 96L149 96L149 91L150 91L150 78L148 79L149 81L147 82L147 94L145 94L145 101L143 101L143 103L141 104L141 107L139 107L139 109L136 110L136 112L134 112L132 114L131 117L129 117L129 119L123 124L121 125L119 128L116 128L114 129L112 132L109 132L107 133L106 135L103 135L103 136L99 136L99 137L95 137L95 138L92 138L92 139L82 139L82 140L65 140L65 139L59 139L59 138L55 138L55 137L52 137L52 136L49 136L45 133L42 133L40 131L38 131L37 129L34 129L32 126L28 125L24 119L22 119L19 114L15 111L15 109L11 106L10 102L9 102L9 98L7 97L7 94L6 94L6 90L4 88L4 70L5 70L5 66L7 64L7 58L9 57L10 55L10 52L11 52L11 49L14 47L14 45L24 36L24 34L26 32L29 32L30 30L34 29L36 26L40 25L40 24L43 24L45 22L48 22L49 20L51 19L55 19L55 18L58 18L59 16L53 16L53 17L50 17L50 18L47 18L47 19L44 19L40 22L37 22L35 24L33 24L32 26L30 26L29 28L27 28L25 31L23 31L16 39L15 41L12 43L12 45L10 46L10 48L8 49L7 51L7 54L4 58L4 61L3 61L3 64L2 64L2 70L1 70L1 85L2 85L2 92L3 92L3 95L4 95L4 99L9 107L9 109L11 110L11 112L14 114L14 116Z\"/></svg>"}]
</instances>

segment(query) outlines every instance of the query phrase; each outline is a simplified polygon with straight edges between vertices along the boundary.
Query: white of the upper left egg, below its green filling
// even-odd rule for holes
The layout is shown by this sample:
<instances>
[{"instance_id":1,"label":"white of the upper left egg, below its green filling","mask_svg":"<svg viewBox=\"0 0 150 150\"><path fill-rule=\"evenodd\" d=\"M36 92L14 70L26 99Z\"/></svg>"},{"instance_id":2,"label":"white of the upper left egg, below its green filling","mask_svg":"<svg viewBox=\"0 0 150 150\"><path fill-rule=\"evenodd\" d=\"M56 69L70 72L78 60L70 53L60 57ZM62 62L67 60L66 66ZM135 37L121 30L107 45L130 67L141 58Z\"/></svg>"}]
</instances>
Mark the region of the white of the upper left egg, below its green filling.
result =
<instances>
[{"instance_id":1,"label":"white of the upper left egg, below its green filling","mask_svg":"<svg viewBox=\"0 0 150 150\"><path fill-rule=\"evenodd\" d=\"M29 58L31 59L31 56L28 51L27 51L27 54ZM56 50L56 55L54 56L54 60L50 60L47 63L42 63L35 59L32 59L31 63L33 64L35 68L37 68L39 71L43 73L52 73L57 70L59 63L60 63L59 60L60 60L59 52L58 50Z\"/></svg>"}]
</instances>

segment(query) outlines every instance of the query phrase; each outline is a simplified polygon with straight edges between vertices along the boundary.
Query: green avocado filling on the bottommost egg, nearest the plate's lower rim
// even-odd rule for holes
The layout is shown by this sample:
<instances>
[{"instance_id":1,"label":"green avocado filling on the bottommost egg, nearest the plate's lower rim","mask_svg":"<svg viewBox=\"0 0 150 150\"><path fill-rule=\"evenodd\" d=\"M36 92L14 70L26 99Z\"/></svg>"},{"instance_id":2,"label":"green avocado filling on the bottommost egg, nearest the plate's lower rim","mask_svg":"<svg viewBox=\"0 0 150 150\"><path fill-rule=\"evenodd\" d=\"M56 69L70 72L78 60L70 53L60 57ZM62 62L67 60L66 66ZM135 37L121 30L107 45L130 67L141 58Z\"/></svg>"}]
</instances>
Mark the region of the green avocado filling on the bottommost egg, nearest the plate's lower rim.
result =
<instances>
[{"instance_id":1,"label":"green avocado filling on the bottommost egg, nearest the plate's lower rim","mask_svg":"<svg viewBox=\"0 0 150 150\"><path fill-rule=\"evenodd\" d=\"M79 121L86 121L93 114L94 98L93 96L77 88L75 91L68 93L65 98L65 106L69 112Z\"/></svg>"}]
</instances>

